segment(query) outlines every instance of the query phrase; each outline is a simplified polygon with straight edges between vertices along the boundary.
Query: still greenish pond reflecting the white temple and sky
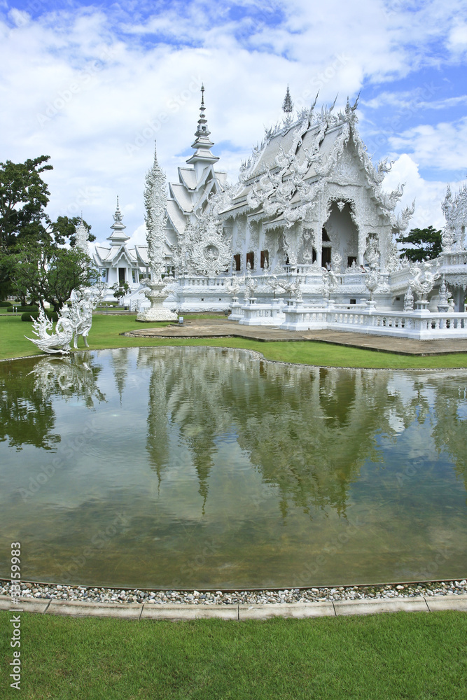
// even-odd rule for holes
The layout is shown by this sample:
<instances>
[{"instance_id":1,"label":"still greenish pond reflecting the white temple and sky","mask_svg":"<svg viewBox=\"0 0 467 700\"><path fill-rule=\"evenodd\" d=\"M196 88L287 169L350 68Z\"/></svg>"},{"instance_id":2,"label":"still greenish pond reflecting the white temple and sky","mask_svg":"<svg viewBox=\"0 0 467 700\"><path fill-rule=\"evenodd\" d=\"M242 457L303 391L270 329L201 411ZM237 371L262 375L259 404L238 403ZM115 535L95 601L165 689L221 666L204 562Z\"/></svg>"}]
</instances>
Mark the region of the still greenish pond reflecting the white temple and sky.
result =
<instances>
[{"instance_id":1,"label":"still greenish pond reflecting the white temple and sky","mask_svg":"<svg viewBox=\"0 0 467 700\"><path fill-rule=\"evenodd\" d=\"M301 587L467 573L467 370L244 350L0 363L0 575Z\"/></svg>"}]
</instances>

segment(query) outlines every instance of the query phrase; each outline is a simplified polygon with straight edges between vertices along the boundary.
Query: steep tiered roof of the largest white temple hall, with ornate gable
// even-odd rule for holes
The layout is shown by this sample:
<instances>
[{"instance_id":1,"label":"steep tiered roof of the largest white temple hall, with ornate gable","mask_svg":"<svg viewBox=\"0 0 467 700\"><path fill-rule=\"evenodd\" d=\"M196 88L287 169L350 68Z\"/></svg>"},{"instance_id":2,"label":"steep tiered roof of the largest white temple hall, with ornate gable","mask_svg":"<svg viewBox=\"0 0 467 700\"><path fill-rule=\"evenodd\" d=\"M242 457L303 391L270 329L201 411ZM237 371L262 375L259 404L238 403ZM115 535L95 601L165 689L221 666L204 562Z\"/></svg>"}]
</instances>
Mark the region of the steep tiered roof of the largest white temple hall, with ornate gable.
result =
<instances>
[{"instance_id":1,"label":"steep tiered roof of the largest white temple hall, with ornate gable","mask_svg":"<svg viewBox=\"0 0 467 700\"><path fill-rule=\"evenodd\" d=\"M349 179L349 183L363 186L379 214L391 219L394 232L400 230L403 219L410 216L410 207L405 208L400 221L394 217L403 188L389 194L382 191L381 183L391 165L386 160L377 167L372 164L356 129L357 102L352 107L347 100L345 110L337 115L333 106L315 114L313 105L294 122L286 118L267 130L263 142L242 164L236 193L221 212L223 218L264 212L272 221L284 215L290 226L312 206L323 184L337 178L337 182Z\"/></svg>"}]
</instances>

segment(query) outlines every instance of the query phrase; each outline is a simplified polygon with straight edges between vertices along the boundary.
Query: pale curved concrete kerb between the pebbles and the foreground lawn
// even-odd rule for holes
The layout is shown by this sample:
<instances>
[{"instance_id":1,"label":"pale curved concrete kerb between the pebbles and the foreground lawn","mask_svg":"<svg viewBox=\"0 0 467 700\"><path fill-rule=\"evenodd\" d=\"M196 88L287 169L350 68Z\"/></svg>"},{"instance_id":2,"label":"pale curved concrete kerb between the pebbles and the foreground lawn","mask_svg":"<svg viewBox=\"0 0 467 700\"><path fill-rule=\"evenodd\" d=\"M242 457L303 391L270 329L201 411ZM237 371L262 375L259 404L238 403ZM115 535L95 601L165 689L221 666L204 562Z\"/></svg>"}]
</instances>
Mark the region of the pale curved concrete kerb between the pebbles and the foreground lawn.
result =
<instances>
[{"instance_id":1,"label":"pale curved concrete kerb between the pebbles and the foreground lawn","mask_svg":"<svg viewBox=\"0 0 467 700\"><path fill-rule=\"evenodd\" d=\"M119 617L125 619L210 619L218 617L242 622L246 619L271 617L340 617L341 615L375 615L377 612L467 612L467 595L417 596L414 598L379 598L359 601L325 601L317 603L265 603L264 605L149 605L148 603L83 603L38 598L12 605L11 598L0 596L0 610L39 612L71 617Z\"/></svg>"}]
</instances>

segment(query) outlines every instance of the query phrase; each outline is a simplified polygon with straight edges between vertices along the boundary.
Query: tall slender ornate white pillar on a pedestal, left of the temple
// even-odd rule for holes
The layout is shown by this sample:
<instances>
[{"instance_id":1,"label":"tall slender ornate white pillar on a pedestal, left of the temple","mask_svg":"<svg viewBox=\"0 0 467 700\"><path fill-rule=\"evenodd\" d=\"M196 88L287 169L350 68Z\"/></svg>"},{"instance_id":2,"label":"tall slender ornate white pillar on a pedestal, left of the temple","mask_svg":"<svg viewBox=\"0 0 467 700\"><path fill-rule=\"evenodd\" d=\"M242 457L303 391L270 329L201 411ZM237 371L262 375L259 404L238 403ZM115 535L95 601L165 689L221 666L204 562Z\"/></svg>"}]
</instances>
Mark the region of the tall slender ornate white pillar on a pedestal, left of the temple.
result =
<instances>
[{"instance_id":1,"label":"tall slender ornate white pillar on a pedestal, left of the temple","mask_svg":"<svg viewBox=\"0 0 467 700\"><path fill-rule=\"evenodd\" d=\"M144 279L145 296L151 302L151 307L140 311L137 321L176 321L177 314L162 306L167 296L166 284L162 281L162 271L165 267L165 224L167 222L167 195L165 174L158 163L154 148L153 167L146 174L144 190L144 207L146 209L146 240L148 241L148 258L151 262L151 279Z\"/></svg>"}]
</instances>

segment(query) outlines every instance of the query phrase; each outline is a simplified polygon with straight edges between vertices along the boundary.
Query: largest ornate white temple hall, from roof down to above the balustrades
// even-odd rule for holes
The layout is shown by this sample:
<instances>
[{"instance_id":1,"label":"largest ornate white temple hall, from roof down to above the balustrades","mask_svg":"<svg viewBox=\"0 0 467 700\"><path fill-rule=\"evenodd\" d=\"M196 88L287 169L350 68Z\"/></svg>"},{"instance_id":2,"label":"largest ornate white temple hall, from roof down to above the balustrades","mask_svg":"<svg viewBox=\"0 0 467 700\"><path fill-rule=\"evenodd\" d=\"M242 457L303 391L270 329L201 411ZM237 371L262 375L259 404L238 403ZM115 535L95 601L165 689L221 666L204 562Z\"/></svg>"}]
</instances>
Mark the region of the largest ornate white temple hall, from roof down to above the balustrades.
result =
<instances>
[{"instance_id":1,"label":"largest ornate white temple hall, from roof down to above the balustrades","mask_svg":"<svg viewBox=\"0 0 467 700\"><path fill-rule=\"evenodd\" d=\"M394 253L393 234L405 230L412 209L394 208L403 188L387 195L386 161L375 168L356 129L356 104L344 113L314 109L270 130L242 165L229 206L235 271L277 266L360 267L368 241L383 268Z\"/></svg>"}]
</instances>

